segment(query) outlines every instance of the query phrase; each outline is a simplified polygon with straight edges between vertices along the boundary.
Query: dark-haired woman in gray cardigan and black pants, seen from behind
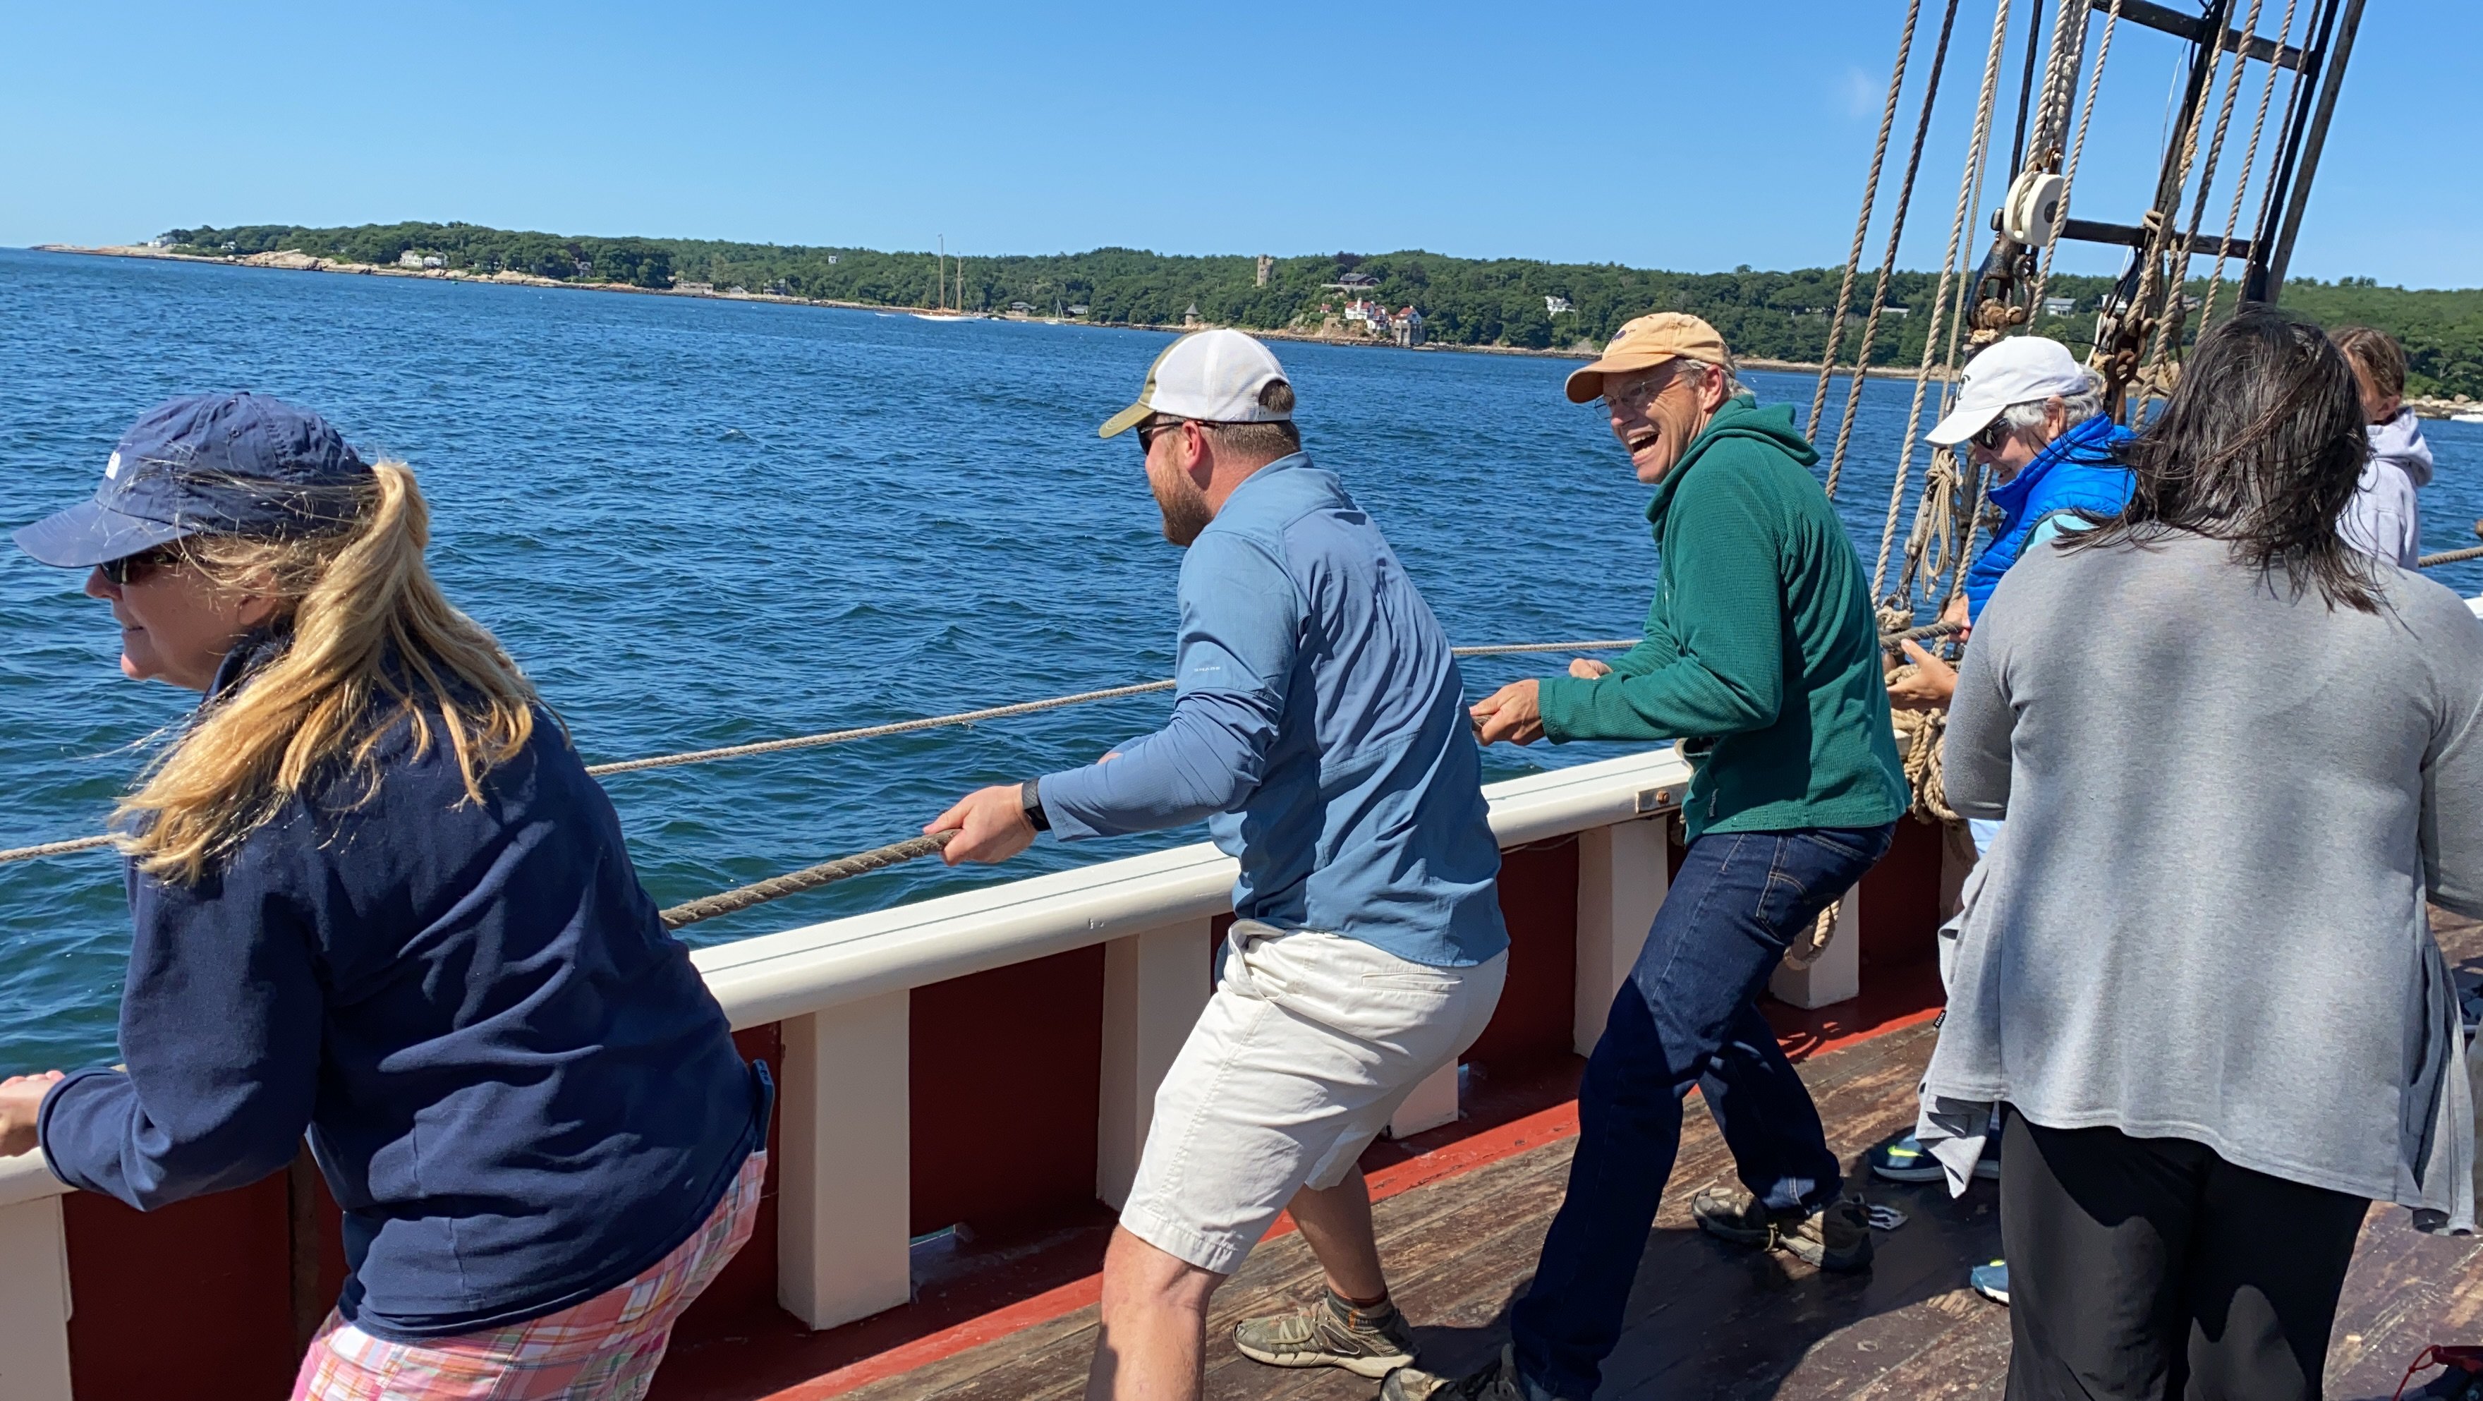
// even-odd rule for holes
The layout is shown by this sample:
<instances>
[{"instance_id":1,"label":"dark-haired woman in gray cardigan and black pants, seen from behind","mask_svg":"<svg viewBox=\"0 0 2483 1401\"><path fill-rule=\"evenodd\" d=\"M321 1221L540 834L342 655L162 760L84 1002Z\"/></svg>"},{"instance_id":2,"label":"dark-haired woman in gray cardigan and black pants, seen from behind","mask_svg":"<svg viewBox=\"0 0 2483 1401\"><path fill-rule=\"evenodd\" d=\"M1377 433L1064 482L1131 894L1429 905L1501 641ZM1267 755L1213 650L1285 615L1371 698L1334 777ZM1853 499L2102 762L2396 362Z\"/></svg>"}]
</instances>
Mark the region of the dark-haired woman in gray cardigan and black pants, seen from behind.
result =
<instances>
[{"instance_id":1,"label":"dark-haired woman in gray cardigan and black pants, seen from behind","mask_svg":"<svg viewBox=\"0 0 2483 1401\"><path fill-rule=\"evenodd\" d=\"M2344 544L2369 455L2314 325L2200 338L2130 507L2001 579L1947 795L1969 877L1917 1135L2009 1103L2011 1401L2309 1401L2369 1202L2476 1225L2423 902L2483 914L2483 626Z\"/></svg>"}]
</instances>

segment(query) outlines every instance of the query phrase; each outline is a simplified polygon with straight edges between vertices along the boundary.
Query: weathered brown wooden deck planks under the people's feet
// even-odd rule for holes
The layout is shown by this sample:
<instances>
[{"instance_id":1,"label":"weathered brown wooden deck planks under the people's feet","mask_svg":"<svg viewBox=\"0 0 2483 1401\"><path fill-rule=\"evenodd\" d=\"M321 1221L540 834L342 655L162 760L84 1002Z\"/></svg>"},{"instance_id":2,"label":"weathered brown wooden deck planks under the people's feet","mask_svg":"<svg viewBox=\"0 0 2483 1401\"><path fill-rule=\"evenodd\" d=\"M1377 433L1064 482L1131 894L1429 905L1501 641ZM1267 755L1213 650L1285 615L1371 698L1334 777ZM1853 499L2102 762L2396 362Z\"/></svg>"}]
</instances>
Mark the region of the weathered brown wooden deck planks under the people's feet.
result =
<instances>
[{"instance_id":1,"label":"weathered brown wooden deck planks under the people's feet","mask_svg":"<svg viewBox=\"0 0 2483 1401\"><path fill-rule=\"evenodd\" d=\"M2483 924L2436 917L2466 979L2483 976ZM1914 1118L1914 1083L1937 1031L1912 1026L1803 1066L1830 1143L1852 1165ZM1507 1304L1567 1185L1572 1140L1415 1187L1376 1207L1398 1302L1425 1359L1462 1369L1507 1339ZM1907 1212L1880 1235L1870 1274L1820 1274L1783 1254L1748 1254L1703 1237L1688 1197L1733 1177L1713 1120L1693 1103L1664 1210L1649 1237L1619 1351L1599 1396L1713 1399L1999 1399L2009 1312L1964 1289L1972 1264L1999 1254L1996 1190L1962 1200L1939 1185L1862 1182ZM1207 1394L1214 1401L1363 1401L1376 1384L1331 1369L1281 1371L1232 1351L1237 1319L1318 1297L1299 1235L1266 1242L1217 1297ZM2406 1361L2433 1341L2483 1341L2483 1242L2426 1237L2399 1207L2374 1207L2346 1282L2329 1396L2389 1396ZM852 1391L857 1401L1055 1401L1080 1396L1095 1309L1025 1329L926 1369Z\"/></svg>"}]
</instances>

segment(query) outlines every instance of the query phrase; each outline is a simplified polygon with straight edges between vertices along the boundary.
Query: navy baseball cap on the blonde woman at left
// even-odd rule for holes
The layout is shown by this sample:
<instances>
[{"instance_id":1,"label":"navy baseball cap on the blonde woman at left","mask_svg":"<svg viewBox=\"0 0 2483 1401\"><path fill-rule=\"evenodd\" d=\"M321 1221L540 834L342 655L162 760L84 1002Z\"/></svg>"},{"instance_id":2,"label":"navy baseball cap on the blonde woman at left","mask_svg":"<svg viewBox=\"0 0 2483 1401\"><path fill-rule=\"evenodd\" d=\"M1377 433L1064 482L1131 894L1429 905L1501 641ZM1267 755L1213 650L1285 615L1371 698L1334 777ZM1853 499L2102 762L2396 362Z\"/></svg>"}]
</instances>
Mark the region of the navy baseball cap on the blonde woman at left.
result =
<instances>
[{"instance_id":1,"label":"navy baseball cap on the blonde woman at left","mask_svg":"<svg viewBox=\"0 0 2483 1401\"><path fill-rule=\"evenodd\" d=\"M286 537L338 527L338 487L370 467L320 415L263 395L189 395L146 410L104 462L94 499L12 539L60 569L94 569L194 534Z\"/></svg>"}]
</instances>

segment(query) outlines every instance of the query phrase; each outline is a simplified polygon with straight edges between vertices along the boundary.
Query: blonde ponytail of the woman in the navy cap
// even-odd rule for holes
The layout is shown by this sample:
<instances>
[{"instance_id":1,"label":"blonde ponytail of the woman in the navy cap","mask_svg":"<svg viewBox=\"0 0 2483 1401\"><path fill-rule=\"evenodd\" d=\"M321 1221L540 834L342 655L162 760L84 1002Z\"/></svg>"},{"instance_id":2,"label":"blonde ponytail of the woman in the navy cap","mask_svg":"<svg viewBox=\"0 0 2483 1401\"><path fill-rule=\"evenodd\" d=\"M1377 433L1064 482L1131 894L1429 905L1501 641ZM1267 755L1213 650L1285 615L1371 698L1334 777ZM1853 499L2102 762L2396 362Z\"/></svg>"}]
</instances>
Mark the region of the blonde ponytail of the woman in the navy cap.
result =
<instances>
[{"instance_id":1,"label":"blonde ponytail of the woman in the navy cap","mask_svg":"<svg viewBox=\"0 0 2483 1401\"><path fill-rule=\"evenodd\" d=\"M196 882L313 782L323 797L367 802L377 745L400 723L417 755L444 733L474 802L484 775L534 735L534 686L422 564L430 509L415 474L380 462L338 507L333 519L348 524L335 532L184 542L211 586L276 596L293 636L209 700L122 800L122 850L146 874Z\"/></svg>"}]
</instances>

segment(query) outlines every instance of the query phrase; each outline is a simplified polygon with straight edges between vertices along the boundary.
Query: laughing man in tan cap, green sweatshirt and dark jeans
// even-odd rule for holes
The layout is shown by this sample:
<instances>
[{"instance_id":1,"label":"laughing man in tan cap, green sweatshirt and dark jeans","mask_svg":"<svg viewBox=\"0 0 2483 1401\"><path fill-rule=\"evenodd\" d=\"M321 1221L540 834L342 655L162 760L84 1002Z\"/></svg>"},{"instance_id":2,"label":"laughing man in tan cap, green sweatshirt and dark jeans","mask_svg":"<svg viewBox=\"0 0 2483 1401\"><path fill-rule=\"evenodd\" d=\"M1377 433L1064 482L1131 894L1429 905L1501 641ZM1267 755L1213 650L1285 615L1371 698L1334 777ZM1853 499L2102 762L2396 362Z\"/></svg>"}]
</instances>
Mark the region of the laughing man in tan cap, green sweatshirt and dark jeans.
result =
<instances>
[{"instance_id":1,"label":"laughing man in tan cap, green sweatshirt and dark jeans","mask_svg":"<svg viewBox=\"0 0 2483 1401\"><path fill-rule=\"evenodd\" d=\"M1512 1344L1462 1379L1390 1374L1393 1401L1587 1401L1621 1336L1691 1086L1746 1192L1691 1202L1703 1230L1823 1269L1870 1264L1810 1090L1758 1011L1785 946L1887 852L1904 770L1870 586L1783 407L1733 380L1716 328L1641 315L1569 375L1656 489L1661 574L1646 641L1611 666L1517 681L1475 705L1482 740L1683 740L1688 852L1579 1086L1569 1195Z\"/></svg>"}]
</instances>

